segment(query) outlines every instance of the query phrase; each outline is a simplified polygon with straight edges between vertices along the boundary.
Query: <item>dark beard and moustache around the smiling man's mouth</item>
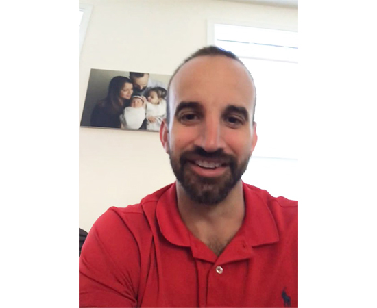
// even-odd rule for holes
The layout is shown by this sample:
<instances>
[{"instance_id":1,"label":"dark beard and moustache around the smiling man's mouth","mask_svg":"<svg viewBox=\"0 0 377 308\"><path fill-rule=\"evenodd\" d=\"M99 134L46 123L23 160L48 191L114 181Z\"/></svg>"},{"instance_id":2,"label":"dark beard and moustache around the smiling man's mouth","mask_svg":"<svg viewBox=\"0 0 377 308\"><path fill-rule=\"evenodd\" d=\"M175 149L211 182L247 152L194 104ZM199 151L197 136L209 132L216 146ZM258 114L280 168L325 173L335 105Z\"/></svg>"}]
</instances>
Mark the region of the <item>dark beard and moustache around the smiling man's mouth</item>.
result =
<instances>
[{"instance_id":1,"label":"dark beard and moustache around the smiling man's mouth","mask_svg":"<svg viewBox=\"0 0 377 308\"><path fill-rule=\"evenodd\" d=\"M221 177L201 177L189 168L191 164L189 157L193 155L196 155L195 157L199 155L204 160L205 158L221 159L228 165L229 172ZM191 200L206 205L216 205L228 196L230 190L241 179L250 159L249 156L238 165L235 157L223 153L222 149L209 153L200 147L182 153L179 163L172 156L173 153L169 156L171 168L186 193Z\"/></svg>"}]
</instances>

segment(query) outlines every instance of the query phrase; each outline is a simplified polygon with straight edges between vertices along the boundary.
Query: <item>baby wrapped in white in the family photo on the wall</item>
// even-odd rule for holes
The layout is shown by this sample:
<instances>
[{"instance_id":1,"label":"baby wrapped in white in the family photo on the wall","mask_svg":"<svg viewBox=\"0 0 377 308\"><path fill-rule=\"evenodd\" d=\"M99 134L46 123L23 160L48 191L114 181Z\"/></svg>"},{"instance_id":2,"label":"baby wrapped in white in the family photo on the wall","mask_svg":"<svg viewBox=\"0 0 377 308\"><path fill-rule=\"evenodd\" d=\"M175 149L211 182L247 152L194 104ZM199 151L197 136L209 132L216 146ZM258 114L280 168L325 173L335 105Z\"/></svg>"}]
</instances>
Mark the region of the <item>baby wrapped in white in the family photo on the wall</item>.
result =
<instances>
[{"instance_id":1,"label":"baby wrapped in white in the family photo on the wall","mask_svg":"<svg viewBox=\"0 0 377 308\"><path fill-rule=\"evenodd\" d=\"M120 118L123 129L139 129L145 120L145 101L143 97L132 97L130 107L125 107Z\"/></svg>"}]
</instances>

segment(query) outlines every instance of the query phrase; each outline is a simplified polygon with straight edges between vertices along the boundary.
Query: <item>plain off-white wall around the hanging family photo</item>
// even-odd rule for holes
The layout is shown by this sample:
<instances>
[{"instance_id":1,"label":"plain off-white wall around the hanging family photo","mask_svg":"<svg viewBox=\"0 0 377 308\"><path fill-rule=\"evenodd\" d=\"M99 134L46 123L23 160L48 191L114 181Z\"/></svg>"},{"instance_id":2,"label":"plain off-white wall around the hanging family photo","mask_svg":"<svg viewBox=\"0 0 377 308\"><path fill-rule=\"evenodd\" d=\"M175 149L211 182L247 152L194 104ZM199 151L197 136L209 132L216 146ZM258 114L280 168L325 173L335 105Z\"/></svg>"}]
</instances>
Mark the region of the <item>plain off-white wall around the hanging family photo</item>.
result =
<instances>
[{"instance_id":1,"label":"plain off-white wall around the hanging family photo","mask_svg":"<svg viewBox=\"0 0 377 308\"><path fill-rule=\"evenodd\" d=\"M92 0L80 55L79 111L91 68L171 75L207 44L208 20L297 30L297 9L217 0ZM158 133L80 127L79 226L174 181Z\"/></svg>"}]
</instances>

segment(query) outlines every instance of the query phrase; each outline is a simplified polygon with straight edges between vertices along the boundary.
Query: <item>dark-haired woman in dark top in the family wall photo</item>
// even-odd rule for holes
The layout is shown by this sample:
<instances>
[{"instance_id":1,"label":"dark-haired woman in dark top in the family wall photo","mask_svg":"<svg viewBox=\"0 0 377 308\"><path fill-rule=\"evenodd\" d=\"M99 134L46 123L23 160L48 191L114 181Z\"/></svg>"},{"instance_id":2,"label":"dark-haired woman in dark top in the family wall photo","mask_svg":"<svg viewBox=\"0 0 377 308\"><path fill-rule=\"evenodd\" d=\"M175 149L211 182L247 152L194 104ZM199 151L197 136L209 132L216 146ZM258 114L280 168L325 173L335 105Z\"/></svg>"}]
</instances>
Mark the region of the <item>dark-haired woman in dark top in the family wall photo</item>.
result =
<instances>
[{"instance_id":1,"label":"dark-haired woman in dark top in the family wall photo","mask_svg":"<svg viewBox=\"0 0 377 308\"><path fill-rule=\"evenodd\" d=\"M90 125L121 128L119 116L123 114L124 108L130 105L132 88L131 79L123 76L112 78L107 97L101 99L93 109Z\"/></svg>"}]
</instances>

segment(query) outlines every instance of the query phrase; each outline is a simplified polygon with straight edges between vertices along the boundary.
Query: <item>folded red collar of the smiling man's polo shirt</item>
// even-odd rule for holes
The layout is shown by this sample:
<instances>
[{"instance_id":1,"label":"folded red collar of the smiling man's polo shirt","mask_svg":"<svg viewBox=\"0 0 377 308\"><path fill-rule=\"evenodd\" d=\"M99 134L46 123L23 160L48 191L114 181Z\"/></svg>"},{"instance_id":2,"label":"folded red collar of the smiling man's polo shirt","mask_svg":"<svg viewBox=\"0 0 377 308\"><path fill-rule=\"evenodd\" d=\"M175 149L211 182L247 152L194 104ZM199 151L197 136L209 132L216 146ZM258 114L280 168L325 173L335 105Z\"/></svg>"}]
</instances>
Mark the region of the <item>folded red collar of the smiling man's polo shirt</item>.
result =
<instances>
[{"instance_id":1,"label":"folded red collar of the smiling man's polo shirt","mask_svg":"<svg viewBox=\"0 0 377 308\"><path fill-rule=\"evenodd\" d=\"M243 183L243 195L245 218L234 239L241 236L243 242L250 246L278 242L278 228L267 203L260 194L245 183ZM191 233L178 211L176 183L173 183L158 199L156 216L162 235L169 242L178 246L191 246Z\"/></svg>"}]
</instances>

